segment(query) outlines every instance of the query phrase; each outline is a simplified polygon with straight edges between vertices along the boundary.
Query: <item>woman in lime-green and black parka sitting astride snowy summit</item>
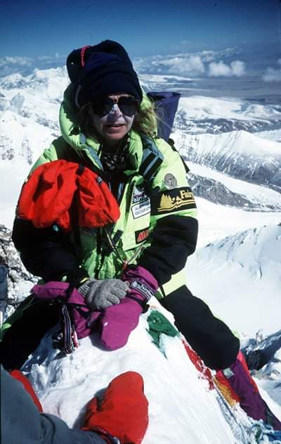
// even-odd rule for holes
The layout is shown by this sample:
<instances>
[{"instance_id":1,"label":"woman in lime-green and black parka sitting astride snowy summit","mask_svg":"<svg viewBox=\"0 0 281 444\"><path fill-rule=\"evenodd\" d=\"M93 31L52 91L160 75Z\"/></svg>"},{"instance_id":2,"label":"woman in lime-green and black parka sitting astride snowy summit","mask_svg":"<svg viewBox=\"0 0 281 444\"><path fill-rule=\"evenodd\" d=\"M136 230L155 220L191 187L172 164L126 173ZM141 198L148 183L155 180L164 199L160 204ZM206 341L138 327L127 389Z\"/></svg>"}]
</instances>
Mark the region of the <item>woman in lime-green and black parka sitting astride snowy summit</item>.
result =
<instances>
[{"instance_id":1,"label":"woman in lime-green and black parka sitting astride snowy summit","mask_svg":"<svg viewBox=\"0 0 281 444\"><path fill-rule=\"evenodd\" d=\"M128 54L107 40L73 51L67 69L72 84L60 108L62 136L33 170L58 159L82 163L108 184L120 216L89 229L73 222L72 208L70 234L17 218L13 241L22 261L46 282L78 288L91 310L102 313L107 349L126 343L155 295L205 364L228 370L223 375L242 407L250 399L255 408L247 411L267 420L267 406L237 358L238 339L185 286L183 269L197 241L195 200L180 156L156 137L152 104Z\"/></svg>"}]
</instances>

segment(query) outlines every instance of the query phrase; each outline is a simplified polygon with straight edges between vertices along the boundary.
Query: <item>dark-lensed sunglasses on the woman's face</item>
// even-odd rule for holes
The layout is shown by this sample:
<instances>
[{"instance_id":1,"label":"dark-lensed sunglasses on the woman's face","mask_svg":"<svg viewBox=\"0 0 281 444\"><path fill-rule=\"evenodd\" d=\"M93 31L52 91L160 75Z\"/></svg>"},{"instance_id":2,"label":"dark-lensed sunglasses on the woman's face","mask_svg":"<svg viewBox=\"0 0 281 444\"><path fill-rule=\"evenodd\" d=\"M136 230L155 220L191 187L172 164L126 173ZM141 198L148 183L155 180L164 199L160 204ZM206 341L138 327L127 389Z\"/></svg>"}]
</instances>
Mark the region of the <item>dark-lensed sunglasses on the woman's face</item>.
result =
<instances>
[{"instance_id":1,"label":"dark-lensed sunglasses on the woman's face","mask_svg":"<svg viewBox=\"0 0 281 444\"><path fill-rule=\"evenodd\" d=\"M98 102L92 102L91 105L93 112L102 118L110 112L115 103L117 103L122 114L131 117L136 114L140 102L134 97L121 96L117 100L113 100L110 97L104 97Z\"/></svg>"}]
</instances>

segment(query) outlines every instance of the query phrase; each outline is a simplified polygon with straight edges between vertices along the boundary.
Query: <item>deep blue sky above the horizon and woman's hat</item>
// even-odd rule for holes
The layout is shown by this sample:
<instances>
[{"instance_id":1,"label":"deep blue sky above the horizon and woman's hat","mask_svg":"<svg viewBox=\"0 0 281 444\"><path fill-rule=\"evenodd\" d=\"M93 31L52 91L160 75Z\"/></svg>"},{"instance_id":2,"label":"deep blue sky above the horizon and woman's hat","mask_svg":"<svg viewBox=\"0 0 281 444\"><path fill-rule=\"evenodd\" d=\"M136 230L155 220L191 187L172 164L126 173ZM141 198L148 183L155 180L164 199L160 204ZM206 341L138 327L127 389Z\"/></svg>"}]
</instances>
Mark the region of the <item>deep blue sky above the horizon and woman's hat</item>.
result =
<instances>
[{"instance_id":1,"label":"deep blue sky above the horizon and woman's hat","mask_svg":"<svg viewBox=\"0 0 281 444\"><path fill-rule=\"evenodd\" d=\"M72 49L103 39L132 58L234 48L228 63L280 68L281 0L11 0L0 16L0 68L62 65Z\"/></svg>"}]
</instances>

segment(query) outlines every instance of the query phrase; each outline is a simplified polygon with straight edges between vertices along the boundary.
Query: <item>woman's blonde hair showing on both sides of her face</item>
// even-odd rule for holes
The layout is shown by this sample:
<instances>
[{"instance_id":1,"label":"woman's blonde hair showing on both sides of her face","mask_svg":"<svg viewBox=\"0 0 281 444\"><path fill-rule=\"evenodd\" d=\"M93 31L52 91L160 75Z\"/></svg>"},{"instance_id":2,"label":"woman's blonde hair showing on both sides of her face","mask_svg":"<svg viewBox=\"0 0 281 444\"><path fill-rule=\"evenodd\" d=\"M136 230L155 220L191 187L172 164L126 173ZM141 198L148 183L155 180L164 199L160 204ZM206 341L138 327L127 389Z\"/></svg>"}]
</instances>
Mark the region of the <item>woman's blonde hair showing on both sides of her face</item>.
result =
<instances>
[{"instance_id":1,"label":"woman's blonde hair showing on both sides of her face","mask_svg":"<svg viewBox=\"0 0 281 444\"><path fill-rule=\"evenodd\" d=\"M93 124L94 114L91 102L85 103L85 105L81 106L79 109L78 123L85 136L98 141L100 136ZM155 113L155 107L150 100L145 100L144 106L143 103L141 103L141 106L133 119L132 129L138 132L138 134L145 134L151 139L154 139L157 136L157 114Z\"/></svg>"}]
</instances>

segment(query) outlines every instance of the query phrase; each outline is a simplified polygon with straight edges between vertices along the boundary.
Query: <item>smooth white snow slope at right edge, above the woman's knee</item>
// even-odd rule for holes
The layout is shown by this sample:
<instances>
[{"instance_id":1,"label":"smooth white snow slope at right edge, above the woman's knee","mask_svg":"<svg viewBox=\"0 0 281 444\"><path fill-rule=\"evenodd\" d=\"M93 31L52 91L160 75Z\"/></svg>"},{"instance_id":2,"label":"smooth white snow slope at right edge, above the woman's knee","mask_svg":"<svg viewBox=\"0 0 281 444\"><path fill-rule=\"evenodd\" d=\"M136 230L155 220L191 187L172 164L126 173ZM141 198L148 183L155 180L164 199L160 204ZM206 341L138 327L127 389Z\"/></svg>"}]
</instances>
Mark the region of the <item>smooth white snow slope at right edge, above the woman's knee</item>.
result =
<instances>
[{"instance_id":1,"label":"smooth white snow slope at right edge, above the woman's knee","mask_svg":"<svg viewBox=\"0 0 281 444\"><path fill-rule=\"evenodd\" d=\"M230 328L252 337L259 326L272 334L280 329L280 251L281 225L240 231L197 249L188 284Z\"/></svg>"}]
</instances>

